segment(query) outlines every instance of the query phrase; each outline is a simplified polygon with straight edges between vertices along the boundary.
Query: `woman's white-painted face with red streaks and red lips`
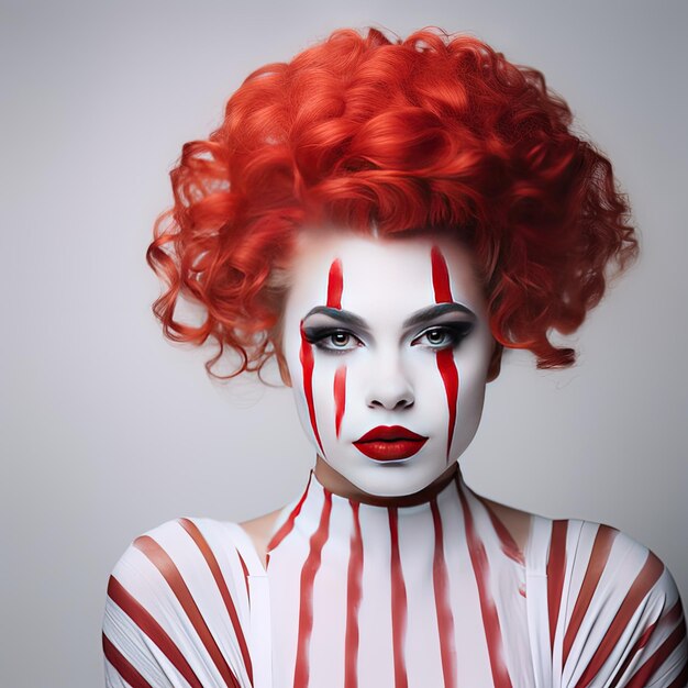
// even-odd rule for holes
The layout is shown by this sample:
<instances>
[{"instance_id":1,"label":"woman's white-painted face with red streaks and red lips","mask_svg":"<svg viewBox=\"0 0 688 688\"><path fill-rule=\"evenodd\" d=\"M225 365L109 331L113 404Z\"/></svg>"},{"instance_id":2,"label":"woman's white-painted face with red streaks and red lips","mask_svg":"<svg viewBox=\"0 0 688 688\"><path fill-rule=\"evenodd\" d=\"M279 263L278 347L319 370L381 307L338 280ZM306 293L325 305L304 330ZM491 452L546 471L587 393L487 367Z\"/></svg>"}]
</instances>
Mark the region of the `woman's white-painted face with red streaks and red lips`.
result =
<instances>
[{"instance_id":1,"label":"woman's white-painted face with red streaks and red lips","mask_svg":"<svg viewBox=\"0 0 688 688\"><path fill-rule=\"evenodd\" d=\"M482 412L495 342L468 254L442 235L304 231L291 276L284 354L317 452L370 495L423 489Z\"/></svg>"}]
</instances>

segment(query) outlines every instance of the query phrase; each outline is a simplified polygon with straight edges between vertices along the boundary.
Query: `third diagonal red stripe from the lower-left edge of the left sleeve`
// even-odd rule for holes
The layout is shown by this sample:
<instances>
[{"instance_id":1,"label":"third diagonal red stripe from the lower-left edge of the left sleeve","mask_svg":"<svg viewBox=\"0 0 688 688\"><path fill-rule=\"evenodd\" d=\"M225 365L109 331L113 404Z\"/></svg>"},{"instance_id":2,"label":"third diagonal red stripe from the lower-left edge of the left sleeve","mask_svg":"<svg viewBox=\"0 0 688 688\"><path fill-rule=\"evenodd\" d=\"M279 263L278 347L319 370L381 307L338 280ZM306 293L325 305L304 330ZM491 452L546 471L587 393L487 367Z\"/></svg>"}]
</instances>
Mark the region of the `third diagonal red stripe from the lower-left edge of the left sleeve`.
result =
<instances>
[{"instance_id":1,"label":"third diagonal red stripe from the lower-left edge of the left sleeve","mask_svg":"<svg viewBox=\"0 0 688 688\"><path fill-rule=\"evenodd\" d=\"M206 620L196 604L193 596L191 595L187 584L179 573L179 569L169 554L167 554L167 552L165 552L165 550L163 550L163 547L160 547L160 545L149 535L141 535L141 537L136 537L136 540L134 540L134 546L148 557L148 559L160 572L165 580L167 580L167 584L181 604L181 608L191 622L191 625L201 639L203 646L220 673L220 676L222 676L224 683L228 686L235 686L236 688L240 688L236 677L232 673L230 665L226 663L224 655L220 652L220 648L218 647Z\"/></svg>"}]
</instances>

